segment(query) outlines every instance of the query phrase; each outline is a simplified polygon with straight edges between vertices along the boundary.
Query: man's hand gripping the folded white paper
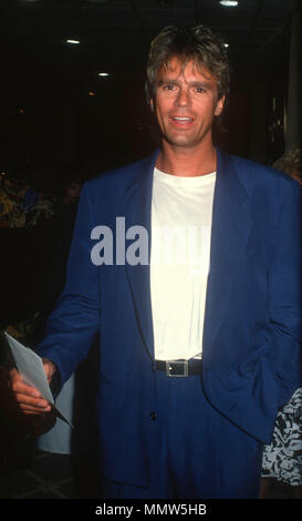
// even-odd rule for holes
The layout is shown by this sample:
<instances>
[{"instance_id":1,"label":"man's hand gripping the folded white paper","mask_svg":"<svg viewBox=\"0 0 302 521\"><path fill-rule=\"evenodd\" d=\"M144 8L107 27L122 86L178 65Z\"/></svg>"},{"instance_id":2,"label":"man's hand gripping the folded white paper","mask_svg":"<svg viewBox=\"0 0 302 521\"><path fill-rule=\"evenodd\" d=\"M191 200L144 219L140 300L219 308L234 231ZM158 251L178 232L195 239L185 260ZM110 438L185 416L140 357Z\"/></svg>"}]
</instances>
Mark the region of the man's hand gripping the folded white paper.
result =
<instances>
[{"instance_id":1,"label":"man's hand gripping the folded white paper","mask_svg":"<svg viewBox=\"0 0 302 521\"><path fill-rule=\"evenodd\" d=\"M56 370L55 365L43 358L43 367L49 384ZM13 401L24 415L42 415L51 411L50 403L33 387L24 384L17 369L10 370L9 387Z\"/></svg>"}]
</instances>

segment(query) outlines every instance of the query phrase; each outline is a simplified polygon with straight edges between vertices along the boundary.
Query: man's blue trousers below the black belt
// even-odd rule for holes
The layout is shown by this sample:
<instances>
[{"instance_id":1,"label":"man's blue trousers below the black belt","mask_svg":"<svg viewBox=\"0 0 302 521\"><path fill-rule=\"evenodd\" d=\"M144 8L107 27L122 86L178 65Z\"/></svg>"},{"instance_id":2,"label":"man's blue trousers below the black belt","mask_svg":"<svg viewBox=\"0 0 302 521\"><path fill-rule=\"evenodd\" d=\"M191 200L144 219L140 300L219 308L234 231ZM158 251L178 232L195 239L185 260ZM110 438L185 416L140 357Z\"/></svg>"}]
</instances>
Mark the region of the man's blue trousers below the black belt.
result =
<instances>
[{"instance_id":1,"label":"man's blue trousers below the black belt","mask_svg":"<svg viewBox=\"0 0 302 521\"><path fill-rule=\"evenodd\" d=\"M262 445L207 400L199 376L157 374L158 408L149 426L148 488L103 481L107 499L259 497Z\"/></svg>"}]
</instances>

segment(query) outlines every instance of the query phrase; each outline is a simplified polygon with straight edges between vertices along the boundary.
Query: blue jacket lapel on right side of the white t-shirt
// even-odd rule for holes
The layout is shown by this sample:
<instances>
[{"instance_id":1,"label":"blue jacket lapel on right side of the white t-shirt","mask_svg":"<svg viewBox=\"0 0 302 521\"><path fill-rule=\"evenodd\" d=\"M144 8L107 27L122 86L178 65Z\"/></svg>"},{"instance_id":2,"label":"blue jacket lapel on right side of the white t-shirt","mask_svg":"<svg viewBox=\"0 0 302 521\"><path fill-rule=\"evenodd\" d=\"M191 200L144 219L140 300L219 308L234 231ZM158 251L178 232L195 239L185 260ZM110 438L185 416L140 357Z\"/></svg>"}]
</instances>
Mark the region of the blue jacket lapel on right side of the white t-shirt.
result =
<instances>
[{"instance_id":1,"label":"blue jacket lapel on right side of the white t-shirt","mask_svg":"<svg viewBox=\"0 0 302 521\"><path fill-rule=\"evenodd\" d=\"M236 159L231 160L217 150L217 160L204 359L210 358L210 348L228 309L237 265L244 252L251 225L249 197L233 166Z\"/></svg>"}]
</instances>

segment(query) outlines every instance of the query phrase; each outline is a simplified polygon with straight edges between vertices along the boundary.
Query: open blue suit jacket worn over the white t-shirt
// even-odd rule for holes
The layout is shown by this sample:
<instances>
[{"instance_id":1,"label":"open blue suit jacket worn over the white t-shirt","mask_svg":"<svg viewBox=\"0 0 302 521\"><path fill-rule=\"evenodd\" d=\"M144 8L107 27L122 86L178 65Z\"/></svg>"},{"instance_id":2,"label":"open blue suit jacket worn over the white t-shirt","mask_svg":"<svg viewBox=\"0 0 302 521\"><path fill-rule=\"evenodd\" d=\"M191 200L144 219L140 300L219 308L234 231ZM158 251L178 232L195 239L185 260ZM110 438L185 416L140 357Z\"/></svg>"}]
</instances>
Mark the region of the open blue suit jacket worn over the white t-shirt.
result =
<instances>
[{"instance_id":1,"label":"open blue suit jacket worn over the white t-shirt","mask_svg":"<svg viewBox=\"0 0 302 521\"><path fill-rule=\"evenodd\" d=\"M267 443L278 407L301 385L301 190L287 174L217 153L204 388L218 411ZM140 225L152 237L156 156L84 186L65 289L40 347L64 382L100 330L101 470L142 486L157 409L149 266L95 266L91 232L114 231L123 216L127 229Z\"/></svg>"}]
</instances>

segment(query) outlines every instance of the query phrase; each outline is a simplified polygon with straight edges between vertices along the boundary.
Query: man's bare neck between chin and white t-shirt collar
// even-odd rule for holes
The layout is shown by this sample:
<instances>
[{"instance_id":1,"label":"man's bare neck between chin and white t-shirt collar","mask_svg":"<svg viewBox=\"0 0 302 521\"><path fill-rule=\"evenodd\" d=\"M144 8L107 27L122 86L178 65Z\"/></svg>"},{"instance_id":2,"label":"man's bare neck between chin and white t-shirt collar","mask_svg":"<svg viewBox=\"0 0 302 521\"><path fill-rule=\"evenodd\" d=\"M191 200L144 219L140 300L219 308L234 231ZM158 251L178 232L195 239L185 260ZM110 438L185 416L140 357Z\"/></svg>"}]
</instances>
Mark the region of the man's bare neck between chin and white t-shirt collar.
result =
<instances>
[{"instance_id":1,"label":"man's bare neck between chin and white t-shirt collar","mask_svg":"<svg viewBox=\"0 0 302 521\"><path fill-rule=\"evenodd\" d=\"M194 151L186 147L175 149L163 141L156 166L167 174L183 177L206 175L217 170L217 154L212 145L206 151L200 146Z\"/></svg>"}]
</instances>

